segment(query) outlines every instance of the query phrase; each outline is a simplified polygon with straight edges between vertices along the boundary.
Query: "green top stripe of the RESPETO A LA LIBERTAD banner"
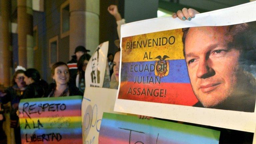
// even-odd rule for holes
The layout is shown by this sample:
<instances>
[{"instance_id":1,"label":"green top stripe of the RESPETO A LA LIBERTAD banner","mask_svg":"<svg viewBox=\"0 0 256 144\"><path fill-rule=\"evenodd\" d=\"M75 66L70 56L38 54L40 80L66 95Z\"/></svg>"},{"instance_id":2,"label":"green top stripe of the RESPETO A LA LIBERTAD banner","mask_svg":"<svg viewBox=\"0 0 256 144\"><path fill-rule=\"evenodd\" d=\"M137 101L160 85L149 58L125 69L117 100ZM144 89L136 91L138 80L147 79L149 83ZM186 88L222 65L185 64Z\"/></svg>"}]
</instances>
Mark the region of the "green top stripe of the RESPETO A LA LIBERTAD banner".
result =
<instances>
[{"instance_id":1,"label":"green top stripe of the RESPETO A LA LIBERTAD banner","mask_svg":"<svg viewBox=\"0 0 256 144\"><path fill-rule=\"evenodd\" d=\"M61 97L61 100L72 100L72 99L81 99L82 100L83 96L66 96L66 97ZM20 103L22 102L39 102L39 98L32 98L32 99L22 99ZM49 97L49 98L44 98L43 101L56 101L60 100L59 97Z\"/></svg>"}]
</instances>

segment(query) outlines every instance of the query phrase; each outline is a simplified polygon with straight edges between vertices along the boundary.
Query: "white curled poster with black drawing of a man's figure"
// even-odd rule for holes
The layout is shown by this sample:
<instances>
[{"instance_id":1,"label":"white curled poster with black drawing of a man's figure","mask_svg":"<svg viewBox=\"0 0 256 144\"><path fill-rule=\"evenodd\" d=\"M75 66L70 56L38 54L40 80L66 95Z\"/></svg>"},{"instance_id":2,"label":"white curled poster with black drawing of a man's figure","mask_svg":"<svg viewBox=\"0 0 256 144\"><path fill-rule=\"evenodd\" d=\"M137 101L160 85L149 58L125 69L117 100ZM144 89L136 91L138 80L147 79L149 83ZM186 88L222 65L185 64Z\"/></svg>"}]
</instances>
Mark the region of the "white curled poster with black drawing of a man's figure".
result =
<instances>
[{"instance_id":1,"label":"white curled poster with black drawing of a man's figure","mask_svg":"<svg viewBox=\"0 0 256 144\"><path fill-rule=\"evenodd\" d=\"M108 55L108 41L100 44L92 54L89 60L85 73L85 85L86 87L102 87L104 82L104 76L109 73L107 65ZM107 69L107 70L106 70ZM109 74L108 74L109 75Z\"/></svg>"}]
</instances>

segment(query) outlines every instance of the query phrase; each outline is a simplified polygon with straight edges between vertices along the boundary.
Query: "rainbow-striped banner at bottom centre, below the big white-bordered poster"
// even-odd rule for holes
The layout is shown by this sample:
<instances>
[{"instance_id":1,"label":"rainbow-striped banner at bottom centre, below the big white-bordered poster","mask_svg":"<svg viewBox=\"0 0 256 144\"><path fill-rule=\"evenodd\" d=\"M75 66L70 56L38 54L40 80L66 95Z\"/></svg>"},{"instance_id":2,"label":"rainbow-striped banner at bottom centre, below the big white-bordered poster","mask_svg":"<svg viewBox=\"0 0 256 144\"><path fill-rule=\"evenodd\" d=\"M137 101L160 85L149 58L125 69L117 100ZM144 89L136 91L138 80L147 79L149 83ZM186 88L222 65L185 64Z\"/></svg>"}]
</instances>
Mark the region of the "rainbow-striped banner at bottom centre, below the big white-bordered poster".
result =
<instances>
[{"instance_id":1,"label":"rainbow-striped banner at bottom centre, below the big white-bordered poster","mask_svg":"<svg viewBox=\"0 0 256 144\"><path fill-rule=\"evenodd\" d=\"M99 144L105 143L212 143L218 144L220 131L157 119L104 113Z\"/></svg>"}]
</instances>

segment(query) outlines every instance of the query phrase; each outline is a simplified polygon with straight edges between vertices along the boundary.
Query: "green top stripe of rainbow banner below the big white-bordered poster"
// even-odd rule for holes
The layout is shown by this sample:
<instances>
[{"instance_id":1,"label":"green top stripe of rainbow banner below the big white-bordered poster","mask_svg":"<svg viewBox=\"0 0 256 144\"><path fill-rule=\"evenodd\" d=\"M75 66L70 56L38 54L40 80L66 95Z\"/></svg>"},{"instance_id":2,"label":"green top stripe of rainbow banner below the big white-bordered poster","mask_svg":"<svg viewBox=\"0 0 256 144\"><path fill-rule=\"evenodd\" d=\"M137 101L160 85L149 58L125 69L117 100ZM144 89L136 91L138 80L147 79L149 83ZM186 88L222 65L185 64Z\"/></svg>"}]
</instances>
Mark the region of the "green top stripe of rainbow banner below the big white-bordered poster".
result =
<instances>
[{"instance_id":1,"label":"green top stripe of rainbow banner below the big white-bordered poster","mask_svg":"<svg viewBox=\"0 0 256 144\"><path fill-rule=\"evenodd\" d=\"M147 120L141 120L139 118L134 120L132 116L127 116L127 115L115 116L115 114L112 114L112 113L104 113L103 115L104 115L104 119L112 119L113 120L113 117L114 117L114 120L124 121L124 122L128 122L128 123L132 122L132 123L146 125L146 122L147 122ZM161 121L161 123L159 123L158 121ZM154 127L158 127L158 128L162 128L162 129L176 130L176 131L183 132L183 133L189 133L189 134L199 135L199 136L213 138L213 139L219 137L219 135L220 135L220 131L197 127L197 126L190 126L190 125L186 125L186 124L179 124L179 123L174 123L174 122L169 122L169 121L150 119L150 123L151 123L151 126L154 126ZM188 127L190 127L190 128L188 128ZM206 133L205 131L208 131L208 133ZM209 131L212 131L212 132L210 133Z\"/></svg>"}]
</instances>

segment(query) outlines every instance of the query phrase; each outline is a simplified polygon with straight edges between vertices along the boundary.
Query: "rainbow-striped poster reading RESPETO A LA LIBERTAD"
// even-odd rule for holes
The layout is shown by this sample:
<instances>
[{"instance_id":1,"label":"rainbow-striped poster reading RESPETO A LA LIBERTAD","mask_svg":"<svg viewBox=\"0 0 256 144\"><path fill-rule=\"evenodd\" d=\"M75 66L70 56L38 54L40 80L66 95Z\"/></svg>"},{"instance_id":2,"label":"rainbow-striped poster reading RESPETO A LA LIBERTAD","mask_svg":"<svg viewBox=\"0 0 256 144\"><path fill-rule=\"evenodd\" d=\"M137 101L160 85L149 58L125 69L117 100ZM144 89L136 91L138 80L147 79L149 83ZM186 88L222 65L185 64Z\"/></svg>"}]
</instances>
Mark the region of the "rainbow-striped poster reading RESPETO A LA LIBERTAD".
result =
<instances>
[{"instance_id":1,"label":"rainbow-striped poster reading RESPETO A LA LIBERTAD","mask_svg":"<svg viewBox=\"0 0 256 144\"><path fill-rule=\"evenodd\" d=\"M82 143L82 96L22 99L21 142Z\"/></svg>"}]
</instances>

